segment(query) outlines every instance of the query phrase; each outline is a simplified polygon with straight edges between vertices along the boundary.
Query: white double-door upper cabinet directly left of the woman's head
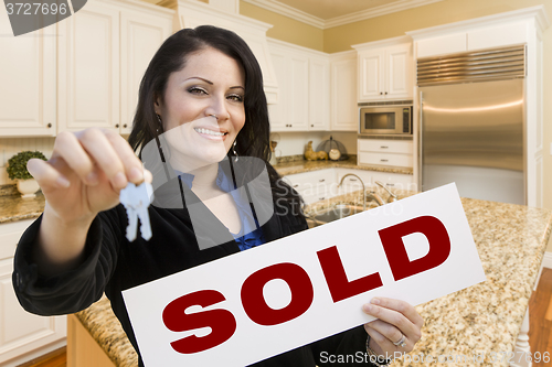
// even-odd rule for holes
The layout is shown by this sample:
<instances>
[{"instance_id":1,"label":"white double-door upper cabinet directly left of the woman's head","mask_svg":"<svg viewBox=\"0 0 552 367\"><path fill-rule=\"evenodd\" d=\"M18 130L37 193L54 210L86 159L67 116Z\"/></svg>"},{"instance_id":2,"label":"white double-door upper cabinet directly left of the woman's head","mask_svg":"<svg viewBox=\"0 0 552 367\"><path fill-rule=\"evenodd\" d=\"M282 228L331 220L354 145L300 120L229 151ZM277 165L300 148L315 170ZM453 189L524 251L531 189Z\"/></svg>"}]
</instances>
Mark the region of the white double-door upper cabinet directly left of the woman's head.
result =
<instances>
[{"instance_id":1,"label":"white double-door upper cabinet directly left of the woman's head","mask_svg":"<svg viewBox=\"0 0 552 367\"><path fill-rule=\"evenodd\" d=\"M94 1L59 23L57 131L130 132L139 82L172 14L139 1Z\"/></svg>"}]
</instances>

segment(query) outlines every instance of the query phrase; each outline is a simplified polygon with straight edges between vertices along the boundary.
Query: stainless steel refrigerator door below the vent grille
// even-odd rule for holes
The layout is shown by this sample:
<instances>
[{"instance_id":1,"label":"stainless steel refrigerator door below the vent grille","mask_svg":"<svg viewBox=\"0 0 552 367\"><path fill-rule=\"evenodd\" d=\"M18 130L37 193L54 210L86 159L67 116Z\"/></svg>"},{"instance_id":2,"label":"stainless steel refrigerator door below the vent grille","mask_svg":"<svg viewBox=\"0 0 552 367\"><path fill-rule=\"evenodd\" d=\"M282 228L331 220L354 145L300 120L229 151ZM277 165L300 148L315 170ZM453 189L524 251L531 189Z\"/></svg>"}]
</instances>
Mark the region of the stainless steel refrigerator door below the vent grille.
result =
<instances>
[{"instance_id":1,"label":"stainless steel refrigerator door below the vent grille","mask_svg":"<svg viewBox=\"0 0 552 367\"><path fill-rule=\"evenodd\" d=\"M422 191L456 182L463 197L527 203L523 85L509 78L418 88Z\"/></svg>"}]
</instances>

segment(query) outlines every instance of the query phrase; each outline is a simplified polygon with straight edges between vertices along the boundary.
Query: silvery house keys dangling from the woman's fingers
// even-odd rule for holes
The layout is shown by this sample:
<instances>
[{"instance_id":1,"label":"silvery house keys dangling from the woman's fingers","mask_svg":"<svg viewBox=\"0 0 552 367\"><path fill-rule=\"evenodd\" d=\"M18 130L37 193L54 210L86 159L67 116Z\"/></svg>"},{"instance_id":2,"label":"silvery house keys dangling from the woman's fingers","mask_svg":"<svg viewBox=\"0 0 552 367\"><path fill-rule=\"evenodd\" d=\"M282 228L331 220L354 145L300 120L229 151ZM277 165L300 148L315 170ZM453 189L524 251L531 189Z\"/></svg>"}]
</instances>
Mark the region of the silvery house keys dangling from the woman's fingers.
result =
<instances>
[{"instance_id":1,"label":"silvery house keys dangling from the woman's fingers","mask_svg":"<svg viewBox=\"0 0 552 367\"><path fill-rule=\"evenodd\" d=\"M151 224L149 222L148 207L151 203L153 188L151 184L142 182L135 185L129 182L119 193L120 204L125 206L128 217L127 239L134 241L138 231L138 219L140 219L140 235L145 240L151 238Z\"/></svg>"}]
</instances>

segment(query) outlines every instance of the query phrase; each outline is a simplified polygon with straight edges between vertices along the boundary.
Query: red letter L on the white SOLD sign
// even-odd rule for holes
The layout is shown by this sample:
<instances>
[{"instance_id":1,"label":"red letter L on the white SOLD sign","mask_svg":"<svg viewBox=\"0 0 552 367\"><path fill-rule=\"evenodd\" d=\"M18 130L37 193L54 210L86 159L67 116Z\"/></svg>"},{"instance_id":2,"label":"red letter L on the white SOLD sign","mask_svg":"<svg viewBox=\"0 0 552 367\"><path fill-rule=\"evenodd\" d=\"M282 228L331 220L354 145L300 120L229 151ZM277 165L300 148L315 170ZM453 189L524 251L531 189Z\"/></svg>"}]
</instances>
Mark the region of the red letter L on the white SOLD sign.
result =
<instances>
[{"instance_id":1,"label":"red letter L on the white SOLD sign","mask_svg":"<svg viewBox=\"0 0 552 367\"><path fill-rule=\"evenodd\" d=\"M333 303L382 287L379 273L349 281L336 246L317 252Z\"/></svg>"}]
</instances>

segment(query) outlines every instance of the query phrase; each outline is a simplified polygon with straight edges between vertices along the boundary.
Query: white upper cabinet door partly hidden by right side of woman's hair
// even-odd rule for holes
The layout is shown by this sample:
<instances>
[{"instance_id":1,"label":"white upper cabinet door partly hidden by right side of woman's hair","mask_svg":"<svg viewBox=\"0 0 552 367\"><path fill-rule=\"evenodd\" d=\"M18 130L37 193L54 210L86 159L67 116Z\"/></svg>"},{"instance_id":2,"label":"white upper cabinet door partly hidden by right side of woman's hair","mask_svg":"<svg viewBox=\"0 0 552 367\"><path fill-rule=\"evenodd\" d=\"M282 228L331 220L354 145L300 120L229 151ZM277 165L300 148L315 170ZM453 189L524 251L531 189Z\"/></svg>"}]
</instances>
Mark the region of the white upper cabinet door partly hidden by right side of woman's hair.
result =
<instances>
[{"instance_id":1,"label":"white upper cabinet door partly hidden by right side of woman's hair","mask_svg":"<svg viewBox=\"0 0 552 367\"><path fill-rule=\"evenodd\" d=\"M270 51L274 72L278 80L278 99L276 104L268 105L268 116L272 131L285 131L289 126L287 100L289 88L289 60L277 50Z\"/></svg>"}]
</instances>

